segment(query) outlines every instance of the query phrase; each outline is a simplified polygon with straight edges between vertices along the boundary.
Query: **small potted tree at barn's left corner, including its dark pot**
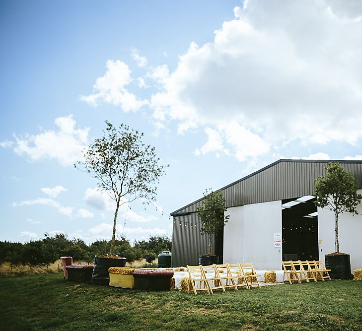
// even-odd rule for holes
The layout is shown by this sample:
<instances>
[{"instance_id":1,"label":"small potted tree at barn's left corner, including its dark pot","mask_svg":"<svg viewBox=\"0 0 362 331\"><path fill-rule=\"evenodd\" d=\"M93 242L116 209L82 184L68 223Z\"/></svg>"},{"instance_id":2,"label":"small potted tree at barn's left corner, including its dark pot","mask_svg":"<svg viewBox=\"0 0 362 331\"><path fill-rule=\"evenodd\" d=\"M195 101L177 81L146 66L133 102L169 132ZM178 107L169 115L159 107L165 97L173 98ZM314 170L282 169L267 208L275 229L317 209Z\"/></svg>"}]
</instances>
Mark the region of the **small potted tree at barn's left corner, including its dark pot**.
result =
<instances>
[{"instance_id":1,"label":"small potted tree at barn's left corner, including its dark pot","mask_svg":"<svg viewBox=\"0 0 362 331\"><path fill-rule=\"evenodd\" d=\"M211 254L211 244L214 235L217 235L227 223L230 215L225 215L225 198L221 191L213 192L211 189L204 193L202 206L197 207L198 217L201 220L201 234L208 235L208 254L200 255L200 265L218 263L218 256Z\"/></svg>"}]
</instances>

